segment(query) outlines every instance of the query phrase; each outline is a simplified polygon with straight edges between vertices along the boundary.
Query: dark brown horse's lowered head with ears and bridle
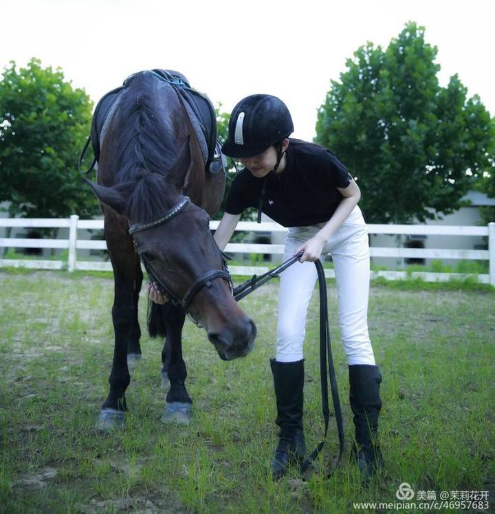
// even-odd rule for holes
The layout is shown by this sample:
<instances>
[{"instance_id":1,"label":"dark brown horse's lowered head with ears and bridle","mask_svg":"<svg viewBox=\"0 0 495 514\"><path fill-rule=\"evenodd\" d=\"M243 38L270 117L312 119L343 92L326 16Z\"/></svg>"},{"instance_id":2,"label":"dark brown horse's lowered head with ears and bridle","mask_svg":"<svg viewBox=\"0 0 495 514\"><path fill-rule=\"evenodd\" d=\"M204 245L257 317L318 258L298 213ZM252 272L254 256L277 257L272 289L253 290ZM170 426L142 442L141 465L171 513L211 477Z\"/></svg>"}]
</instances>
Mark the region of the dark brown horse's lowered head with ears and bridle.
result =
<instances>
[{"instance_id":1,"label":"dark brown horse's lowered head with ears and bridle","mask_svg":"<svg viewBox=\"0 0 495 514\"><path fill-rule=\"evenodd\" d=\"M148 276L206 328L219 356L244 357L254 345L256 326L232 297L208 214L182 192L190 166L186 139L166 175L138 172L135 179L113 187L89 183L104 205L127 219Z\"/></svg>"}]
</instances>

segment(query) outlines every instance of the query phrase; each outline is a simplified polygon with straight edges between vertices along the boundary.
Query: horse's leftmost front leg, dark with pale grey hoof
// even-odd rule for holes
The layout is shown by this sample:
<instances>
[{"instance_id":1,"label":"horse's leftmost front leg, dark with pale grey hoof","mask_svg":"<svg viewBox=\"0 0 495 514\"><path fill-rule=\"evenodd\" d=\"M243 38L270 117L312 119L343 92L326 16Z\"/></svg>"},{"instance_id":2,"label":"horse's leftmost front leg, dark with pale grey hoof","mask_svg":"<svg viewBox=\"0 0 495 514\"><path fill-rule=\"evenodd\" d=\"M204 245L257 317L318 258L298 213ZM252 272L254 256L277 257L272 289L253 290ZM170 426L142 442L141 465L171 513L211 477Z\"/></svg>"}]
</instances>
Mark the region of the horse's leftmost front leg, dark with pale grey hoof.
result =
<instances>
[{"instance_id":1,"label":"horse's leftmost front leg, dark with pale grey hoof","mask_svg":"<svg viewBox=\"0 0 495 514\"><path fill-rule=\"evenodd\" d=\"M126 258L133 260L133 257L127 256ZM127 367L127 342L133 328L135 315L135 276L133 273L135 267L129 269L128 262L114 262L113 260L112 265L115 277L115 296L112 307L115 343L109 377L110 392L100 410L99 429L110 429L124 423L124 412L127 410L125 391L131 381Z\"/></svg>"}]
</instances>

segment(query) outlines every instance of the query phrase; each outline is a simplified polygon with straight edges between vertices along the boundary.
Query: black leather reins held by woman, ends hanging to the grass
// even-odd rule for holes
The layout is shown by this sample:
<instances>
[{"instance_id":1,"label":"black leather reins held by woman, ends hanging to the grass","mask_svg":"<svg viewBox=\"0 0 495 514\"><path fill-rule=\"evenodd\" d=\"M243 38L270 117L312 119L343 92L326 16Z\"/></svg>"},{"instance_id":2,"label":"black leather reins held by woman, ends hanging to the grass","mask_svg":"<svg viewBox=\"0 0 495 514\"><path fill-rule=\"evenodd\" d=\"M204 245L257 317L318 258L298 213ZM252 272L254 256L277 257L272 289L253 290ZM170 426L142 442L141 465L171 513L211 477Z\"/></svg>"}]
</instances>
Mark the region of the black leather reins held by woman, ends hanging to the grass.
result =
<instances>
[{"instance_id":1,"label":"black leather reins held by woman, ends hanging to the grass","mask_svg":"<svg viewBox=\"0 0 495 514\"><path fill-rule=\"evenodd\" d=\"M282 264L263 275L257 277L254 275L250 280L243 282L243 284L234 288L234 299L239 302L242 298L252 293L254 289L258 289L263 284L279 276L282 271L292 266L295 262L298 262L303 252L293 256L289 260L282 262ZM337 378L335 368L333 366L333 357L331 352L331 341L328 321L328 298L327 298L327 282L325 282L325 271L323 265L318 259L315 261L316 271L318 272L318 288L320 290L320 380L321 380L321 394L322 394L322 414L323 420L325 421L325 435L321 443L314 449L311 455L301 465L301 471L306 471L318 455L322 451L327 440L327 432L329 428L330 409L329 409L329 395L328 395L328 378L330 378L330 388L332 394L333 410L336 416L336 424L338 431L338 438L340 443L339 456L336 461L336 466L333 468L331 473L327 475L327 478L331 476L336 467L342 462L342 456L344 454L344 423L342 420L342 410L340 408L340 399L338 394ZM327 368L328 366L328 368ZM328 373L328 376L327 376Z\"/></svg>"}]
</instances>

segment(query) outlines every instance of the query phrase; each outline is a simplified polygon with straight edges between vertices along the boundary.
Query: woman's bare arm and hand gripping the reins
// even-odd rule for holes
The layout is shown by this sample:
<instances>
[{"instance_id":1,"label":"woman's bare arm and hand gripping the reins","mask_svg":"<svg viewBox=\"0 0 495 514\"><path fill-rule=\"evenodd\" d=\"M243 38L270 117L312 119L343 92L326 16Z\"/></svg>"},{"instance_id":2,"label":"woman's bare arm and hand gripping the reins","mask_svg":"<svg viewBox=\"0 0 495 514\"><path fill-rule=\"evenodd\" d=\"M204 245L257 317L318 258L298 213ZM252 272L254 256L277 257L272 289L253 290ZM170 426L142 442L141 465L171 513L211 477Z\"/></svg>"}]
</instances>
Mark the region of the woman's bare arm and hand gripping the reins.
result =
<instances>
[{"instance_id":1,"label":"woman's bare arm and hand gripping the reins","mask_svg":"<svg viewBox=\"0 0 495 514\"><path fill-rule=\"evenodd\" d=\"M349 214L356 205L358 205L358 201L361 198L361 191L358 187L358 184L355 183L354 180L351 180L349 186L347 188L337 188L340 194L342 194L342 201L340 201L336 212L333 213L333 216L327 221L324 227L316 233L311 239L308 239L304 245L301 245L296 249L294 254L298 254L301 250L304 250L303 256L300 258L300 262L304 262L305 260L309 260L310 262L314 262L318 258L320 258L321 252L325 243L331 238L333 234L337 232L340 225L347 220Z\"/></svg>"}]
</instances>

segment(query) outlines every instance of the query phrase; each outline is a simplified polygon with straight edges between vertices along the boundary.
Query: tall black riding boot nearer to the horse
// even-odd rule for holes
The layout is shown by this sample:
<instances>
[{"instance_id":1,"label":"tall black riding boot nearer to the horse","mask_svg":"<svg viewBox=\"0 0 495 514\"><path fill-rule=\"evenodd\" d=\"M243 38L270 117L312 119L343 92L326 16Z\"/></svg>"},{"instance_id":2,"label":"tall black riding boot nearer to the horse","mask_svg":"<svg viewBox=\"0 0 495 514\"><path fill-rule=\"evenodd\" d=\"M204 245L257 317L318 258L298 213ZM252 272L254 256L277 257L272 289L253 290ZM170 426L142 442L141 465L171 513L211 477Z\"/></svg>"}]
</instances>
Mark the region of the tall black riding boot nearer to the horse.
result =
<instances>
[{"instance_id":1,"label":"tall black riding boot nearer to the horse","mask_svg":"<svg viewBox=\"0 0 495 514\"><path fill-rule=\"evenodd\" d=\"M278 446L270 462L274 480L287 472L294 462L302 462L306 454L303 431L304 359L295 362L277 362L270 359L274 376L277 417L280 427Z\"/></svg>"}]
</instances>

